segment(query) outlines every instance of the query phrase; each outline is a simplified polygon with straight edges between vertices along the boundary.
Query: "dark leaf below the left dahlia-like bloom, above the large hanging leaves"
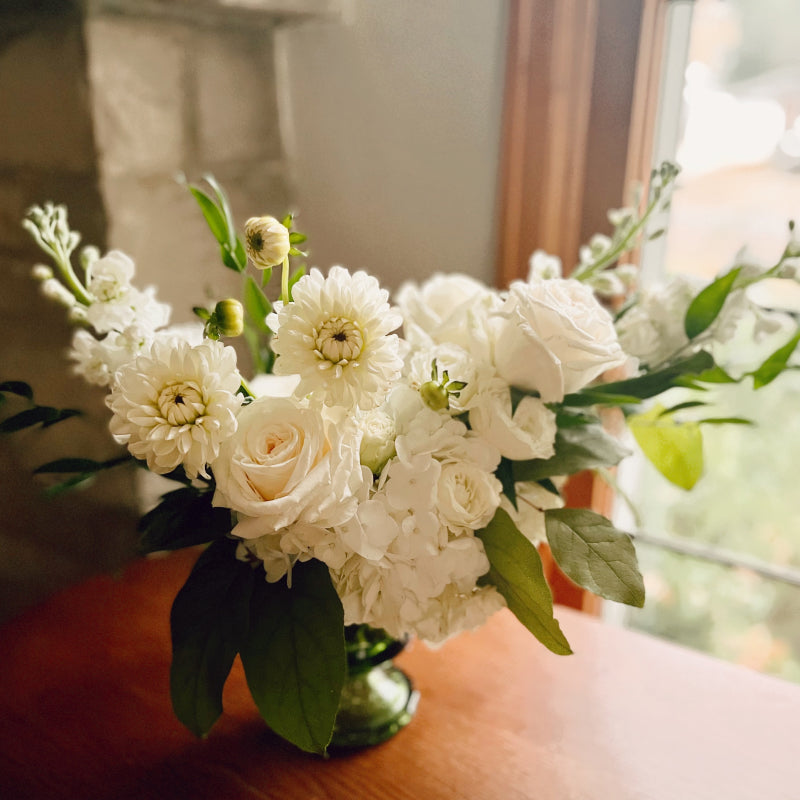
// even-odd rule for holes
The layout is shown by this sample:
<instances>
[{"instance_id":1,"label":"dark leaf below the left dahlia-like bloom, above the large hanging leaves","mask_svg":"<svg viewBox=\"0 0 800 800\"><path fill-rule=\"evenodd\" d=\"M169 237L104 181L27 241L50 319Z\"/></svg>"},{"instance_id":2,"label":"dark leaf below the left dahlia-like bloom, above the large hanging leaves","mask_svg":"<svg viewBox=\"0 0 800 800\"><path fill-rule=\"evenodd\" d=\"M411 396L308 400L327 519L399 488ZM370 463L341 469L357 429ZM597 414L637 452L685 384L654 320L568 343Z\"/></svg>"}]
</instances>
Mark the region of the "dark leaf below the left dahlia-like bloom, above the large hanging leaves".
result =
<instances>
[{"instance_id":1,"label":"dark leaf below the left dahlia-like bloom, above the large hanging leaves","mask_svg":"<svg viewBox=\"0 0 800 800\"><path fill-rule=\"evenodd\" d=\"M139 520L140 552L178 550L227 536L232 527L230 511L212 506L213 496L213 492L201 492L193 486L165 494Z\"/></svg>"}]
</instances>

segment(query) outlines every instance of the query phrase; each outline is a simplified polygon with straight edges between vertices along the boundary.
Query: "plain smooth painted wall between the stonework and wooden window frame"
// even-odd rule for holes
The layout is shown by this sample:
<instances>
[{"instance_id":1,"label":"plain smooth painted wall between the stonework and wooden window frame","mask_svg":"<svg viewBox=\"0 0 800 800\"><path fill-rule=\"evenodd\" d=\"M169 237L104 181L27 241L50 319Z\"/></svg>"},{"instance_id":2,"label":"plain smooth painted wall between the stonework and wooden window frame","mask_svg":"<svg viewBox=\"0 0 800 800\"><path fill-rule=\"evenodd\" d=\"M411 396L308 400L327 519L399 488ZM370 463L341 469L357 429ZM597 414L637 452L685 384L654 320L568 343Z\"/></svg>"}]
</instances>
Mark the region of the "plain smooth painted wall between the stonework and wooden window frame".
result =
<instances>
[{"instance_id":1,"label":"plain smooth painted wall between the stonework and wooden window frame","mask_svg":"<svg viewBox=\"0 0 800 800\"><path fill-rule=\"evenodd\" d=\"M312 265L390 288L493 280L506 0L350 0L280 31L284 141Z\"/></svg>"}]
</instances>

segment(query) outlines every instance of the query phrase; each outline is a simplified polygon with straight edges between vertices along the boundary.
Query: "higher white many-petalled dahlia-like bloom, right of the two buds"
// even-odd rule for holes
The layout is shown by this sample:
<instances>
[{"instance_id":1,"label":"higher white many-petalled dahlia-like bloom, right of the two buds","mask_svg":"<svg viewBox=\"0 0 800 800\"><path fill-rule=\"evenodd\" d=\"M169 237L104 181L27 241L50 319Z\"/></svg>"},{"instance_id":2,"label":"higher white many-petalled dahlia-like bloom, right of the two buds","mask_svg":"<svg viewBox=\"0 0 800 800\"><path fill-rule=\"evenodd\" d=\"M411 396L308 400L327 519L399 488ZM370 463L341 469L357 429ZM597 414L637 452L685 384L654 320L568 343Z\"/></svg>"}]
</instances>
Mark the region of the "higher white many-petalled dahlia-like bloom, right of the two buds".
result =
<instances>
[{"instance_id":1,"label":"higher white many-petalled dahlia-like bloom, right of the two buds","mask_svg":"<svg viewBox=\"0 0 800 800\"><path fill-rule=\"evenodd\" d=\"M366 272L333 267L323 278L312 269L268 319L276 374L298 374L296 393L328 406L379 406L402 368L398 338L389 335L402 319L388 297Z\"/></svg>"}]
</instances>

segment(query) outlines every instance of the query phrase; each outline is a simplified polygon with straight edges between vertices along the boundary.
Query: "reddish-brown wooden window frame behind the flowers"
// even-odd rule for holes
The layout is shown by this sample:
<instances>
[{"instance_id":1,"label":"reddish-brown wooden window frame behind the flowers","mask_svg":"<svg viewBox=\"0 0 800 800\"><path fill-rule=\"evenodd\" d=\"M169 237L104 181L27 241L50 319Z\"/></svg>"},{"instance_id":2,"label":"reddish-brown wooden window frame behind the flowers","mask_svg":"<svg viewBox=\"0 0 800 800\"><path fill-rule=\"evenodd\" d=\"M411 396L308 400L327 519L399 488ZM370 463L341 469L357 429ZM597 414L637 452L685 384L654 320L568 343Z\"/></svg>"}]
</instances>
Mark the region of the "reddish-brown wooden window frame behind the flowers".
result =
<instances>
[{"instance_id":1,"label":"reddish-brown wooden window frame behind the flowers","mask_svg":"<svg viewBox=\"0 0 800 800\"><path fill-rule=\"evenodd\" d=\"M536 248L565 271L606 212L650 174L669 0L510 0L496 281L524 278ZM567 485L568 505L608 514L607 484ZM542 548L556 602L599 614Z\"/></svg>"}]
</instances>

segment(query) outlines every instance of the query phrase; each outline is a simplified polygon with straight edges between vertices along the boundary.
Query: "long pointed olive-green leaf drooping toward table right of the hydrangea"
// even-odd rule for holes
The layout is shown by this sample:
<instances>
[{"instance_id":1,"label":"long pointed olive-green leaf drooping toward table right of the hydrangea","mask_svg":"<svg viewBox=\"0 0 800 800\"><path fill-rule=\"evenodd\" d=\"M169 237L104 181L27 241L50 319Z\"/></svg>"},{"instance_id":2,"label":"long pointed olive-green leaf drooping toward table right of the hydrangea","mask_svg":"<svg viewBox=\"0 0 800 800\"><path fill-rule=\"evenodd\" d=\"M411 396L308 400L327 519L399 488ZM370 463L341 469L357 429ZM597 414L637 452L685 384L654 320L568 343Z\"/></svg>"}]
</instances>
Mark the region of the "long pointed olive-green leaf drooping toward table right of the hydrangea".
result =
<instances>
[{"instance_id":1,"label":"long pointed olive-green leaf drooping toward table right of the hydrangea","mask_svg":"<svg viewBox=\"0 0 800 800\"><path fill-rule=\"evenodd\" d=\"M569 655L572 649L553 617L553 596L536 547L502 509L477 536L491 564L481 583L495 586L517 619L548 650Z\"/></svg>"}]
</instances>

